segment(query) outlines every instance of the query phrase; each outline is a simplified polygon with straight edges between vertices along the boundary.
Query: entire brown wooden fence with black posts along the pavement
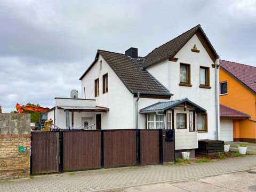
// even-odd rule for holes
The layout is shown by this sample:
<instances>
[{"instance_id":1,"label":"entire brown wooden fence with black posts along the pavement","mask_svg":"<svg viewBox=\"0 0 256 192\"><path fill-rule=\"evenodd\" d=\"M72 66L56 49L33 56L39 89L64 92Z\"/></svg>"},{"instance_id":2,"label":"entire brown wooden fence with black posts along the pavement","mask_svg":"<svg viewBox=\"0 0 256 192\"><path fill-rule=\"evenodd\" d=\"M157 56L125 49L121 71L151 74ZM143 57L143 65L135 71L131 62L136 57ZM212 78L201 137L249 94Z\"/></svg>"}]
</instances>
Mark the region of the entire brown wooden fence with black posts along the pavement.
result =
<instances>
[{"instance_id":1,"label":"entire brown wooden fence with black posts along the pavement","mask_svg":"<svg viewBox=\"0 0 256 192\"><path fill-rule=\"evenodd\" d=\"M174 161L164 130L32 132L31 173L150 165Z\"/></svg>"}]
</instances>

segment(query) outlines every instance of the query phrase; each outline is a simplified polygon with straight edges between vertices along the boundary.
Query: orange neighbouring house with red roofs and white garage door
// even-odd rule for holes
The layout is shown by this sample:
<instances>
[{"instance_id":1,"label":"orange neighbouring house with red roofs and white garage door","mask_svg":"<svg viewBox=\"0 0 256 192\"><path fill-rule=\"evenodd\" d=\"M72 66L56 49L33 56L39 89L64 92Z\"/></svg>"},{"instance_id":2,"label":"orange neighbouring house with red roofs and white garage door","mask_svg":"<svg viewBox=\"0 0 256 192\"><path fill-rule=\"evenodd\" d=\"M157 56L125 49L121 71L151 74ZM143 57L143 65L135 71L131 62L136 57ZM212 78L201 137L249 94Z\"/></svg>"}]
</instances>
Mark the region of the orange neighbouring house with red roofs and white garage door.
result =
<instances>
[{"instance_id":1,"label":"orange neighbouring house with red roofs and white garage door","mask_svg":"<svg viewBox=\"0 0 256 192\"><path fill-rule=\"evenodd\" d=\"M220 60L220 139L256 143L256 67Z\"/></svg>"}]
</instances>

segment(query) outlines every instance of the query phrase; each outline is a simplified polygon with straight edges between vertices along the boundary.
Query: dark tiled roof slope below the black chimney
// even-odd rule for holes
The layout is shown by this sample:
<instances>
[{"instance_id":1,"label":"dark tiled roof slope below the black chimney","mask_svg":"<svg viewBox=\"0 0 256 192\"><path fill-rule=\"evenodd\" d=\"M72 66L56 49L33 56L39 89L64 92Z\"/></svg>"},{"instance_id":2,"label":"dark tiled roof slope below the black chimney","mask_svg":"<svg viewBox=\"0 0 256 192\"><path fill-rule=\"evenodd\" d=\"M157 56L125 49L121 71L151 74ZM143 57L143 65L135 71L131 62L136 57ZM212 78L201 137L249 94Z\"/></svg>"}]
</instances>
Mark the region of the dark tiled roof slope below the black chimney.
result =
<instances>
[{"instance_id":1,"label":"dark tiled roof slope below the black chimney","mask_svg":"<svg viewBox=\"0 0 256 192\"><path fill-rule=\"evenodd\" d=\"M147 70L143 69L144 58L133 59L128 55L98 50L131 93L172 95Z\"/></svg>"}]
</instances>

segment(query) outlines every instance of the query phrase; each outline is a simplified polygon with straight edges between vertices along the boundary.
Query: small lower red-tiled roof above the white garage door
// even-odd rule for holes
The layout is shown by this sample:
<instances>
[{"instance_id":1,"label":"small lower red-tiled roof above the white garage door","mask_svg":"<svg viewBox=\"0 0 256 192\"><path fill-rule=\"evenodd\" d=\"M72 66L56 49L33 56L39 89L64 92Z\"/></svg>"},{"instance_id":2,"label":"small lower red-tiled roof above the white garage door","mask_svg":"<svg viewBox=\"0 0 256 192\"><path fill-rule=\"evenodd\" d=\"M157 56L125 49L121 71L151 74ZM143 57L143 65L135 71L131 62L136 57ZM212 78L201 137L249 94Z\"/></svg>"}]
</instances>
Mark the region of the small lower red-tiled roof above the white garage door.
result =
<instances>
[{"instance_id":1,"label":"small lower red-tiled roof above the white garage door","mask_svg":"<svg viewBox=\"0 0 256 192\"><path fill-rule=\"evenodd\" d=\"M250 115L247 115L241 111L220 104L220 117L249 118Z\"/></svg>"}]
</instances>

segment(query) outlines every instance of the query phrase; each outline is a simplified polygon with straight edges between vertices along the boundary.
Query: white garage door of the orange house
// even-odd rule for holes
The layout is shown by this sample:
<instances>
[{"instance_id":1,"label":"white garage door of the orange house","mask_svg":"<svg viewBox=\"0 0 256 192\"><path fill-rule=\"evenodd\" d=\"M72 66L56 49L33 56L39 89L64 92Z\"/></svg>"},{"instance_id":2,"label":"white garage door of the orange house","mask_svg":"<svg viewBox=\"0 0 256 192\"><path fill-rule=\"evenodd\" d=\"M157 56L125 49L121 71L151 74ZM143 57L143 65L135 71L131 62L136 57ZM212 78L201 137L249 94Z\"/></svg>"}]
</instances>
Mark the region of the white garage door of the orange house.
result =
<instances>
[{"instance_id":1,"label":"white garage door of the orange house","mask_svg":"<svg viewBox=\"0 0 256 192\"><path fill-rule=\"evenodd\" d=\"M233 120L220 119L220 140L233 141Z\"/></svg>"}]
</instances>

